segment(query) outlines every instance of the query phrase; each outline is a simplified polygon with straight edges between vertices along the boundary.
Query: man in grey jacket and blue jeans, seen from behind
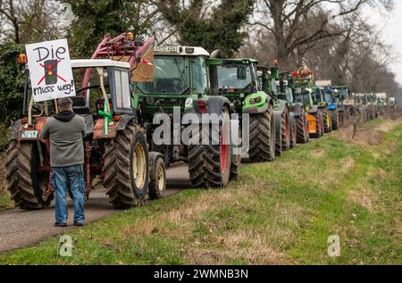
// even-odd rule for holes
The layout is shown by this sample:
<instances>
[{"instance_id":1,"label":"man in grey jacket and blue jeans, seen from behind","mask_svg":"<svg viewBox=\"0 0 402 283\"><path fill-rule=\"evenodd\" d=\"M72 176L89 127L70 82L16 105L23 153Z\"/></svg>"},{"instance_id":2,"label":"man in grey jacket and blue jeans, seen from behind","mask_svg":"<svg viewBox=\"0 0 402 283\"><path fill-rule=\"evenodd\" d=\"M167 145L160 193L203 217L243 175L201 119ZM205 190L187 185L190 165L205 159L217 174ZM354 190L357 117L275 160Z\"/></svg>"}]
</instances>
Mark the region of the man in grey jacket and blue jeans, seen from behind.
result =
<instances>
[{"instance_id":1,"label":"man in grey jacket and blue jeans, seen from behind","mask_svg":"<svg viewBox=\"0 0 402 283\"><path fill-rule=\"evenodd\" d=\"M59 113L48 118L41 137L50 138L50 166L55 191L56 227L66 227L66 193L70 188L74 206L74 226L83 226L84 215L84 142L87 126L84 118L72 112L71 98L57 101Z\"/></svg>"}]
</instances>

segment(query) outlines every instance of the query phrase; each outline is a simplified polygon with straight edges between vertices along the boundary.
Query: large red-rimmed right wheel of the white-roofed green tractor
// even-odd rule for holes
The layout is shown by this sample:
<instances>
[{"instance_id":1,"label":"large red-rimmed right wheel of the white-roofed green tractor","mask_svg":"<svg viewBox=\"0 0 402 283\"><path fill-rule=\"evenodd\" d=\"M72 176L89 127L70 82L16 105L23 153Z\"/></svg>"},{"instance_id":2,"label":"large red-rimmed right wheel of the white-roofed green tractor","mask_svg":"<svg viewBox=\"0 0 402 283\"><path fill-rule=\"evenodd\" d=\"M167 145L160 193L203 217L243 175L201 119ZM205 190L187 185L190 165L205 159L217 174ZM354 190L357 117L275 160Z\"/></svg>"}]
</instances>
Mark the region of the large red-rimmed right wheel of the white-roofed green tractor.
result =
<instances>
[{"instance_id":1,"label":"large red-rimmed right wheel of the white-roofed green tractor","mask_svg":"<svg viewBox=\"0 0 402 283\"><path fill-rule=\"evenodd\" d=\"M226 187L230 179L231 164L228 110L223 109L222 123L219 127L213 125L212 129L207 129L210 131L208 145L203 145L202 133L205 129L201 128L195 133L197 137L192 137L199 141L198 145L188 146L188 172L191 185L193 187ZM219 132L214 132L216 130ZM215 141L214 137L219 137L219 141Z\"/></svg>"}]
</instances>

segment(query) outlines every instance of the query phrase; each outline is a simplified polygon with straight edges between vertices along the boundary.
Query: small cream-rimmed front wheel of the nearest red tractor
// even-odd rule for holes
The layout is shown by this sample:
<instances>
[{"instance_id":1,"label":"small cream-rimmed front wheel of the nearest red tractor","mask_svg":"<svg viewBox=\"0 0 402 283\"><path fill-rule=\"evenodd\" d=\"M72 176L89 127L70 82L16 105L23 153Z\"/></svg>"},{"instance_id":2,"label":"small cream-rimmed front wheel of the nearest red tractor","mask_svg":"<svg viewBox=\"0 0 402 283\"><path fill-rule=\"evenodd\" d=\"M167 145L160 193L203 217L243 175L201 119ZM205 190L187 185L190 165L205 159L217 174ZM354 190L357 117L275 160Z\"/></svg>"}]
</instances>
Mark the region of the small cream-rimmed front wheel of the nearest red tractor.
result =
<instances>
[{"instance_id":1,"label":"small cream-rimmed front wheel of the nearest red tractor","mask_svg":"<svg viewBox=\"0 0 402 283\"><path fill-rule=\"evenodd\" d=\"M161 199L166 191L166 170L164 168L163 155L149 153L149 199Z\"/></svg>"}]
</instances>

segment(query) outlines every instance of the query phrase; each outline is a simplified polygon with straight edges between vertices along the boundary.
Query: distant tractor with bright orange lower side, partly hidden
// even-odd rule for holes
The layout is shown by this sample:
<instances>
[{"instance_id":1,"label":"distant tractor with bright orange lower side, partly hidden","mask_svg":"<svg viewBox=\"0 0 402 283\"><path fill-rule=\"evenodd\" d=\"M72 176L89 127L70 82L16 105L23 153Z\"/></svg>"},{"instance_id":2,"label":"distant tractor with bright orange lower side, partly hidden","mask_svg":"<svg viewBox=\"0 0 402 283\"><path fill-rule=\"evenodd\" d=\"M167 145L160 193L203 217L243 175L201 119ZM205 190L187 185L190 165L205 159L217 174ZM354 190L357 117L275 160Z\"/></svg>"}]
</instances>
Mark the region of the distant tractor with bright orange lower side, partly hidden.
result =
<instances>
[{"instance_id":1,"label":"distant tractor with bright orange lower side, partly hidden","mask_svg":"<svg viewBox=\"0 0 402 283\"><path fill-rule=\"evenodd\" d=\"M314 105L313 75L313 71L310 71L306 66L293 72L293 98L295 102L303 104L307 112L310 137L322 137L324 134L323 114L322 108Z\"/></svg>"}]
</instances>

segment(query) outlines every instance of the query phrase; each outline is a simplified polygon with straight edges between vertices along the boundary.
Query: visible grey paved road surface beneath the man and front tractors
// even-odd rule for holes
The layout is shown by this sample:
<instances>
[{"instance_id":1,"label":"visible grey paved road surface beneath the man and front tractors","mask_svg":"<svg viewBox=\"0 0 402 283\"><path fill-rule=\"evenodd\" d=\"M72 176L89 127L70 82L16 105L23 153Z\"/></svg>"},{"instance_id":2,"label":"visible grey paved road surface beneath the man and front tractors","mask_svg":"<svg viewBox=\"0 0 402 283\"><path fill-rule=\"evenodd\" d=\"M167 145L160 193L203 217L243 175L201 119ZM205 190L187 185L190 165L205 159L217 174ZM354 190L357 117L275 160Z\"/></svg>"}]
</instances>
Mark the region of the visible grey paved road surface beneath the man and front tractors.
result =
<instances>
[{"instance_id":1,"label":"visible grey paved road surface beneath the man and front tractors","mask_svg":"<svg viewBox=\"0 0 402 283\"><path fill-rule=\"evenodd\" d=\"M181 189L189 187L188 170L186 165L177 165L167 171L167 195L172 196ZM72 227L72 207L69 202L69 227L55 228L54 208L48 207L40 211L23 212L20 209L11 209L0 212L0 253L23 246L30 246L39 241L65 233ZM140 209L140 208L139 208ZM109 204L105 191L99 189L91 192L85 204L86 222L104 218L119 212Z\"/></svg>"}]
</instances>

